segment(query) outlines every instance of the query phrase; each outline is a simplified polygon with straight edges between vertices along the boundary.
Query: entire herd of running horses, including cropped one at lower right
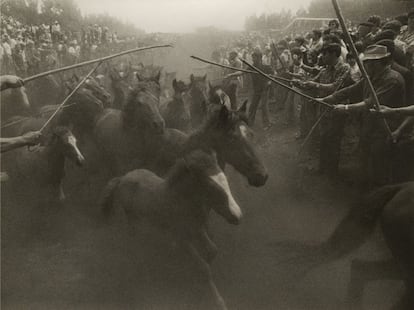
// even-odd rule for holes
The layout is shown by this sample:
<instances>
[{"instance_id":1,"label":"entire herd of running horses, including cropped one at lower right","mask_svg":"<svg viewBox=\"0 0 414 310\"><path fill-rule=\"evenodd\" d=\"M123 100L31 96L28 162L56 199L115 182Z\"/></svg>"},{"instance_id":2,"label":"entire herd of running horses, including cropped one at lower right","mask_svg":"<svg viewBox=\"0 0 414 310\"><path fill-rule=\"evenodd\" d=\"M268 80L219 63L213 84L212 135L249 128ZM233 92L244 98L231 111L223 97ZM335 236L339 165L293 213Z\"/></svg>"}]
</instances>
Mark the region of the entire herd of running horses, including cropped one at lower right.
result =
<instances>
[{"instance_id":1,"label":"entire herd of running horses, including cropped one at lower right","mask_svg":"<svg viewBox=\"0 0 414 310\"><path fill-rule=\"evenodd\" d=\"M99 173L102 214L109 218L121 209L131 226L146 218L169 231L197 262L217 307L226 309L210 269L217 248L207 232L209 211L230 224L241 220L223 172L226 164L255 187L265 185L268 172L252 141L247 101L228 104L235 100L232 90L213 87L206 76L191 75L188 84L165 76L161 82L159 70L141 64L108 66L100 77L104 82L90 77L46 127L40 145L2 156L10 176L6 189L26 197L23 203L38 196L41 204L60 204L67 161L83 165L85 179ZM2 93L2 136L39 130L79 81L76 75L62 82L46 77L27 85L30 106L14 91ZM168 98L165 84L172 92ZM408 309L414 305L412 182L371 193L321 245L294 244L301 250L296 262L317 266L343 257L362 244L378 219L393 260L354 261L350 295L360 301L361 283L397 277L406 286L399 307Z\"/></svg>"}]
</instances>

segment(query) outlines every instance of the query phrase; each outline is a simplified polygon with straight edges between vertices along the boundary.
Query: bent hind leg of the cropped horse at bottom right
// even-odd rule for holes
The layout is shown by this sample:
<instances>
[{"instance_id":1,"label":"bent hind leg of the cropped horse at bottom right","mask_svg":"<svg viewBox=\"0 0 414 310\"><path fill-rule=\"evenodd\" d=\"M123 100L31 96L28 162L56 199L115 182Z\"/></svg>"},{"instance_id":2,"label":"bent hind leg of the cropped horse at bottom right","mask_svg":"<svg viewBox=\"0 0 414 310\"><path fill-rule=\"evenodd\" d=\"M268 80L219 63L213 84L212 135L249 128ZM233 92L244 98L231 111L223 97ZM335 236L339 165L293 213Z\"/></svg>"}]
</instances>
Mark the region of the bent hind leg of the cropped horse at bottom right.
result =
<instances>
[{"instance_id":1,"label":"bent hind leg of the cropped horse at bottom right","mask_svg":"<svg viewBox=\"0 0 414 310\"><path fill-rule=\"evenodd\" d=\"M397 262L390 258L383 261L354 259L351 263L351 279L348 285L348 300L352 308L362 306L364 287L367 282L384 279L401 279Z\"/></svg>"}]
</instances>

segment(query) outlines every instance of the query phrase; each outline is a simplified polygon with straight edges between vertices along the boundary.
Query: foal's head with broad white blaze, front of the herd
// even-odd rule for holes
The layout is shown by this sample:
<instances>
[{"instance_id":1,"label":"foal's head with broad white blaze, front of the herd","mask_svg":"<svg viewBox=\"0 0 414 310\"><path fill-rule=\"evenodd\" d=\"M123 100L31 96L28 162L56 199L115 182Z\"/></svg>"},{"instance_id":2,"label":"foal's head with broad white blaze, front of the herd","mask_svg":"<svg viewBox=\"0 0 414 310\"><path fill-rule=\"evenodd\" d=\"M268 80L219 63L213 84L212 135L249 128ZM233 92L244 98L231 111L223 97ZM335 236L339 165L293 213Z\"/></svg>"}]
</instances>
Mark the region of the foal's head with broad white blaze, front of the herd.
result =
<instances>
[{"instance_id":1,"label":"foal's head with broad white blaze, front of the herd","mask_svg":"<svg viewBox=\"0 0 414 310\"><path fill-rule=\"evenodd\" d=\"M192 206L205 206L224 217L230 224L239 224L242 211L233 198L230 187L223 170L220 168L215 152L211 150L194 150L182 159L184 175L177 182L188 184L185 190L191 190L194 197ZM187 182L185 183L187 184Z\"/></svg>"}]
</instances>

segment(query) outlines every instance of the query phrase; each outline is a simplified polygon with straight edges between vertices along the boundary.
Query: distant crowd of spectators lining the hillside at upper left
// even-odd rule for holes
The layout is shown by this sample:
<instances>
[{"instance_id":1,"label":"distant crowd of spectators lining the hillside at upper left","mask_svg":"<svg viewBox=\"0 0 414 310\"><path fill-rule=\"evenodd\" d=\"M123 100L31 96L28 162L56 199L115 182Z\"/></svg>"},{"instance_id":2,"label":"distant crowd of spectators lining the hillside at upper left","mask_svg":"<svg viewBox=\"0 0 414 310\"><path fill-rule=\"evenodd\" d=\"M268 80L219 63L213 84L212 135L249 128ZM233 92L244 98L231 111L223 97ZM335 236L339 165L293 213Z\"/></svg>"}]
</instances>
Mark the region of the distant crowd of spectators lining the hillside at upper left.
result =
<instances>
[{"instance_id":1,"label":"distant crowd of spectators lining the hillside at upper left","mask_svg":"<svg viewBox=\"0 0 414 310\"><path fill-rule=\"evenodd\" d=\"M5 15L0 23L1 71L20 77L108 55L123 48L120 43L134 41L98 24L70 31L58 21L27 25Z\"/></svg>"}]
</instances>

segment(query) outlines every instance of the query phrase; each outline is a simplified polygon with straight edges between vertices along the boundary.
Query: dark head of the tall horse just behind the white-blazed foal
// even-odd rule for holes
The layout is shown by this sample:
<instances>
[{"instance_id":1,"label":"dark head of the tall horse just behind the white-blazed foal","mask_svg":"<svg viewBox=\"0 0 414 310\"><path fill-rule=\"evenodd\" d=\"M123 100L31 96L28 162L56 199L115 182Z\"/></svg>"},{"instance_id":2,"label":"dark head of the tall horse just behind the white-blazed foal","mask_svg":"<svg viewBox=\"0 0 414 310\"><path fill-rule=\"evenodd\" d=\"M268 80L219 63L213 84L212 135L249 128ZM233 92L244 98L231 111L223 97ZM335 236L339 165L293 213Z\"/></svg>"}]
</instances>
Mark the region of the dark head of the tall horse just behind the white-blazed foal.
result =
<instances>
[{"instance_id":1,"label":"dark head of the tall horse just behind the white-blazed foal","mask_svg":"<svg viewBox=\"0 0 414 310\"><path fill-rule=\"evenodd\" d=\"M248 126L245 101L238 111L226 105L216 106L200 130L214 145L219 160L233 166L247 177L252 186L263 186L268 178L266 168L253 146L254 133Z\"/></svg>"}]
</instances>

